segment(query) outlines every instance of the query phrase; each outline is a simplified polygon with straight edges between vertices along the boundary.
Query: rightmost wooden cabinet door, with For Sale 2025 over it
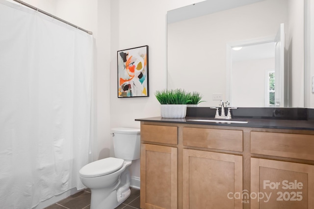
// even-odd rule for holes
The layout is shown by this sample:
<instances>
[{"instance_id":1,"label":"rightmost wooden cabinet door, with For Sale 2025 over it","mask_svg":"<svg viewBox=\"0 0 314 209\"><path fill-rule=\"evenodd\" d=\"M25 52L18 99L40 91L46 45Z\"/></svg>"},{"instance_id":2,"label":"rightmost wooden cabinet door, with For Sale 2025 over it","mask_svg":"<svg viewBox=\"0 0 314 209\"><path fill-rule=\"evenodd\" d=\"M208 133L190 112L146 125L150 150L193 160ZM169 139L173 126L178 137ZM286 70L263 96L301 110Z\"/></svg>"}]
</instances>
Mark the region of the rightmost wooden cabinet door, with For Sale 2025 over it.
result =
<instances>
[{"instance_id":1,"label":"rightmost wooden cabinet door, with For Sale 2025 over it","mask_svg":"<svg viewBox=\"0 0 314 209\"><path fill-rule=\"evenodd\" d=\"M251 158L251 209L314 209L314 165Z\"/></svg>"}]
</instances>

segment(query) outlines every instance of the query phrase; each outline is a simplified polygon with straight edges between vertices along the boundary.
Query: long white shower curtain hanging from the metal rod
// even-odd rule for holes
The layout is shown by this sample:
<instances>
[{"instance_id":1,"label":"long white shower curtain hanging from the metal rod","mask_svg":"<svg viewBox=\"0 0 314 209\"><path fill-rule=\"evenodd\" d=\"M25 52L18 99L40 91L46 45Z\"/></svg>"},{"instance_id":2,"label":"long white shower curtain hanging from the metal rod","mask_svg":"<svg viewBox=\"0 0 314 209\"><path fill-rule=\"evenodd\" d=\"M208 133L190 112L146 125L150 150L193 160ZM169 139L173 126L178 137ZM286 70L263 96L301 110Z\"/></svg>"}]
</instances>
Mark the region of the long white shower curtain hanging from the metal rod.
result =
<instances>
[{"instance_id":1,"label":"long white shower curtain hanging from the metal rod","mask_svg":"<svg viewBox=\"0 0 314 209\"><path fill-rule=\"evenodd\" d=\"M0 209L71 188L92 142L93 38L0 0Z\"/></svg>"}]
</instances>

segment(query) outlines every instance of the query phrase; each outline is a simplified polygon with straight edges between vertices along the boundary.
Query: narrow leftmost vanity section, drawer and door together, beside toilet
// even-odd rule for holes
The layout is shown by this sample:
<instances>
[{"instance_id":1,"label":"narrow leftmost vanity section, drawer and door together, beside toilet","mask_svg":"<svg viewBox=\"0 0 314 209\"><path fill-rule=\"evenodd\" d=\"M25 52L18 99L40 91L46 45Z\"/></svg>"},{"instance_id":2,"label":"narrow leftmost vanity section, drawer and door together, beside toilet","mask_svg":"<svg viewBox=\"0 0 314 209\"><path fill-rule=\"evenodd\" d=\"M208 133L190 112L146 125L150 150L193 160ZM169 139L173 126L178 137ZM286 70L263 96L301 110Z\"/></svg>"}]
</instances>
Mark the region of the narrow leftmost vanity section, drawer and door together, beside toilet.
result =
<instances>
[{"instance_id":1,"label":"narrow leftmost vanity section, drawer and door together, beside toilet","mask_svg":"<svg viewBox=\"0 0 314 209\"><path fill-rule=\"evenodd\" d=\"M141 209L178 209L178 127L141 125L141 141Z\"/></svg>"}]
</instances>

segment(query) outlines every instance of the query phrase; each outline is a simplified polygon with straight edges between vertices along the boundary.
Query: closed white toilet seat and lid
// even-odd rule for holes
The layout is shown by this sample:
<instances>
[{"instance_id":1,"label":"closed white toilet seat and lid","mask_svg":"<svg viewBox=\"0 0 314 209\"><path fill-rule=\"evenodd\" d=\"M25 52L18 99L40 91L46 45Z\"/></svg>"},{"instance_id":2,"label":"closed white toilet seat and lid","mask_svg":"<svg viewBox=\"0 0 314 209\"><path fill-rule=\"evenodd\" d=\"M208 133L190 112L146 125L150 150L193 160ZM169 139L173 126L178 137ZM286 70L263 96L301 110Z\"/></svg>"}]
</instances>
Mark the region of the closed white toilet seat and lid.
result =
<instances>
[{"instance_id":1,"label":"closed white toilet seat and lid","mask_svg":"<svg viewBox=\"0 0 314 209\"><path fill-rule=\"evenodd\" d=\"M119 158L105 158L83 166L79 170L81 177L97 177L116 172L123 166L124 160Z\"/></svg>"}]
</instances>

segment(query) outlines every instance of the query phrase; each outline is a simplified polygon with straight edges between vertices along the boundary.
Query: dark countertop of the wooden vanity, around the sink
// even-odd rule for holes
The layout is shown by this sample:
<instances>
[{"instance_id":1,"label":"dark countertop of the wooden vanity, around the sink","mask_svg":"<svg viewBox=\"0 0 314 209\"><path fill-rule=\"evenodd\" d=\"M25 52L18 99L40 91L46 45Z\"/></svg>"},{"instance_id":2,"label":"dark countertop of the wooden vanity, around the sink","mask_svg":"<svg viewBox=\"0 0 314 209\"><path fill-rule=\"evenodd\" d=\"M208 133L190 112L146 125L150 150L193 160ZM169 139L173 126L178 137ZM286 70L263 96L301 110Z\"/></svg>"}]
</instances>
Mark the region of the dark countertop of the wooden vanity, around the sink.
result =
<instances>
[{"instance_id":1,"label":"dark countertop of the wooden vanity, around the sink","mask_svg":"<svg viewBox=\"0 0 314 209\"><path fill-rule=\"evenodd\" d=\"M272 128L272 129L294 129L294 130L314 130L314 120L286 120L286 119L263 119L263 118L240 118L230 119L237 121L248 121L248 123L219 123L219 122L199 122L188 121L188 119L214 119L214 117L197 117L186 116L185 118L163 118L163 117L148 117L135 119L136 121L148 122L165 122L165 123L186 123L198 125L218 125L218 126L234 126L234 127L249 127L249 128Z\"/></svg>"}]
</instances>

